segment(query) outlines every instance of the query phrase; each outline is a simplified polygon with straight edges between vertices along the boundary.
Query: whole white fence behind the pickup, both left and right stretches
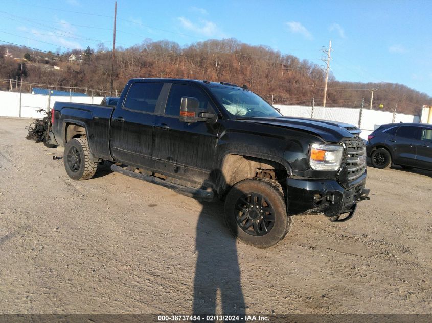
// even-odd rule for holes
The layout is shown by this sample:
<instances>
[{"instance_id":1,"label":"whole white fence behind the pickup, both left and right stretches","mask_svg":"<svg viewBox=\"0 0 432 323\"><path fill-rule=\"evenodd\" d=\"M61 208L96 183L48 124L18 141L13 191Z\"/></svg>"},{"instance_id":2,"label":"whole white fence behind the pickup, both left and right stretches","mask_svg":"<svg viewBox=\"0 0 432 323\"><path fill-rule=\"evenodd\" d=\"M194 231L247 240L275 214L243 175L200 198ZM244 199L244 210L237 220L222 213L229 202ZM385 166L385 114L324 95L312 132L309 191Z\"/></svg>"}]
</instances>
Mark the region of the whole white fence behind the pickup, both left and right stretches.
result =
<instances>
[{"instance_id":1,"label":"whole white fence behind the pickup, both left and right stretches","mask_svg":"<svg viewBox=\"0 0 432 323\"><path fill-rule=\"evenodd\" d=\"M36 113L38 109L54 106L56 101L75 103L100 104L103 97L91 96L50 96L40 94L16 93L0 91L0 116L40 118ZM333 120L350 123L358 126L362 132L361 137L367 139L368 135L383 123L420 122L420 116L392 113L387 111L360 109L360 108L330 108L311 106L275 105L283 115L304 117L321 120ZM361 114L361 117L360 117Z\"/></svg>"}]
</instances>

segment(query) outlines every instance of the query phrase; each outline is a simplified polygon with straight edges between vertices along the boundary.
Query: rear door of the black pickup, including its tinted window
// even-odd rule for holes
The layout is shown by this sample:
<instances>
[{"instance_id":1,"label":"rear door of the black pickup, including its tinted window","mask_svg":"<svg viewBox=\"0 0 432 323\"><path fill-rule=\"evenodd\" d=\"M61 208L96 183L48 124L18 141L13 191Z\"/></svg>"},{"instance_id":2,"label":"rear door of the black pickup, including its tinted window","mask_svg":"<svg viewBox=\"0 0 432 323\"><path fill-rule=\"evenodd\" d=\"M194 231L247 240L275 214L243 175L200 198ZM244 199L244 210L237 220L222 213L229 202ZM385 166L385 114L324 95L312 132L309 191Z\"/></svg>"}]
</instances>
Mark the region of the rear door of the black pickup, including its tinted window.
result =
<instances>
[{"instance_id":1,"label":"rear door of the black pickup, including its tinted window","mask_svg":"<svg viewBox=\"0 0 432 323\"><path fill-rule=\"evenodd\" d=\"M112 115L110 147L115 161L151 169L153 127L164 83L135 82Z\"/></svg>"}]
</instances>

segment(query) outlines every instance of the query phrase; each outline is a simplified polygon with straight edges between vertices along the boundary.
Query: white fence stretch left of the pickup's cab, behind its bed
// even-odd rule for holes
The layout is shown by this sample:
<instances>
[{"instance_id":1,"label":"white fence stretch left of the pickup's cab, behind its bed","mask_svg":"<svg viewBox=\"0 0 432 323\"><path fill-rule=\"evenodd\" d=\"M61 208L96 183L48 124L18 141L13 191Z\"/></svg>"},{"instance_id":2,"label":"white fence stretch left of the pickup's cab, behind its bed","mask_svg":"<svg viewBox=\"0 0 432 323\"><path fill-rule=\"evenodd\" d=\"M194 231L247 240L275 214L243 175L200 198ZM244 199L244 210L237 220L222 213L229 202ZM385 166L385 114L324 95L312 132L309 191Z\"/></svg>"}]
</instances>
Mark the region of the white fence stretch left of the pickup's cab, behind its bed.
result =
<instances>
[{"instance_id":1,"label":"white fence stretch left of the pickup's cab, behind its bed","mask_svg":"<svg viewBox=\"0 0 432 323\"><path fill-rule=\"evenodd\" d=\"M16 93L0 91L0 116L40 118L43 114L37 113L39 109L54 106L56 101L75 103L100 104L103 97L92 96L50 96L41 94Z\"/></svg>"}]
</instances>

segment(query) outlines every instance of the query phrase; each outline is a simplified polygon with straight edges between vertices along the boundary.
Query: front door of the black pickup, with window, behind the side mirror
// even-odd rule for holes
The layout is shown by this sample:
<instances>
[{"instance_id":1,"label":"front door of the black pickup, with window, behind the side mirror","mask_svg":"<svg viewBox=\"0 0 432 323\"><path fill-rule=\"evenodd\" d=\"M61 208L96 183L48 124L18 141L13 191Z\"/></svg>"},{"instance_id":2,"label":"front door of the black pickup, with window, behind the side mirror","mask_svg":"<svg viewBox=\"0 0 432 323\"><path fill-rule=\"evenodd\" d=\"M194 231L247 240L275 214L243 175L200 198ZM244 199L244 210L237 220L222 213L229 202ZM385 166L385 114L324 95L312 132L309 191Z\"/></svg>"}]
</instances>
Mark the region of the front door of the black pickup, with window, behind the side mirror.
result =
<instances>
[{"instance_id":1,"label":"front door of the black pickup, with window, behind the side mirror","mask_svg":"<svg viewBox=\"0 0 432 323\"><path fill-rule=\"evenodd\" d=\"M194 97L202 112L216 113L211 98L198 86L173 83L164 114L154 128L153 167L161 173L202 183L214 166L218 123L179 120L181 97Z\"/></svg>"}]
</instances>

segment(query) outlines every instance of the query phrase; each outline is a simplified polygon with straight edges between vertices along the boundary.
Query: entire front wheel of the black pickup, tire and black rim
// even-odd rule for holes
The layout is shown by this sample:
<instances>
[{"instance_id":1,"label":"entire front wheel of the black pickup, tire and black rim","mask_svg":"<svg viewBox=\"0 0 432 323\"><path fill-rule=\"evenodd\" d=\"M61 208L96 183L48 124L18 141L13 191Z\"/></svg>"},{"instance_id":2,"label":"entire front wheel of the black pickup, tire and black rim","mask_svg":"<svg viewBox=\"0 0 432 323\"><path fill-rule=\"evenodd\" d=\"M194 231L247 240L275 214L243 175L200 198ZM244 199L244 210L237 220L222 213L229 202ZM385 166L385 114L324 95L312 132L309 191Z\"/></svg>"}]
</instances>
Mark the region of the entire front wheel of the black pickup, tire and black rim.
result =
<instances>
[{"instance_id":1,"label":"entire front wheel of the black pickup, tire and black rim","mask_svg":"<svg viewBox=\"0 0 432 323\"><path fill-rule=\"evenodd\" d=\"M246 244L275 245L291 226L281 185L258 178L238 182L226 196L225 221L231 233Z\"/></svg>"}]
</instances>

